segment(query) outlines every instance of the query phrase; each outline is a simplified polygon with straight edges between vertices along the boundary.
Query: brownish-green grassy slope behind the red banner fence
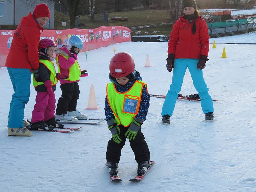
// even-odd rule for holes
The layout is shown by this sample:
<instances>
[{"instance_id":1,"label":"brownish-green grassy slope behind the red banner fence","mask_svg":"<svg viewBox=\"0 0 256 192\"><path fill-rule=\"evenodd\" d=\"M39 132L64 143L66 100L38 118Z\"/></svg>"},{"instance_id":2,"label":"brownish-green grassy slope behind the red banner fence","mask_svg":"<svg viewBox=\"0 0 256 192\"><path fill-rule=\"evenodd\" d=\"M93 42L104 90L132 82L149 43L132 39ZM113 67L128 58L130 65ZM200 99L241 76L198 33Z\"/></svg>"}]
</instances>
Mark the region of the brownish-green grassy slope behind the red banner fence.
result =
<instances>
[{"instance_id":1,"label":"brownish-green grassy slope behind the red banner fence","mask_svg":"<svg viewBox=\"0 0 256 192\"><path fill-rule=\"evenodd\" d=\"M110 17L128 17L128 21L111 21ZM125 26L128 28L145 26L145 25L157 25L148 26L140 29L132 29L131 35L169 35L172 29L171 20L167 10L148 10L148 11L131 11L131 12L111 12L108 13L109 22L104 23L102 21L102 14L95 14L94 22L90 22L90 17L80 16L79 28L98 28L100 26ZM62 27L62 21L67 22L67 28L69 28L69 17L55 11L55 28L65 29ZM165 23L165 24L163 24ZM159 25L161 24L161 25Z\"/></svg>"}]
</instances>

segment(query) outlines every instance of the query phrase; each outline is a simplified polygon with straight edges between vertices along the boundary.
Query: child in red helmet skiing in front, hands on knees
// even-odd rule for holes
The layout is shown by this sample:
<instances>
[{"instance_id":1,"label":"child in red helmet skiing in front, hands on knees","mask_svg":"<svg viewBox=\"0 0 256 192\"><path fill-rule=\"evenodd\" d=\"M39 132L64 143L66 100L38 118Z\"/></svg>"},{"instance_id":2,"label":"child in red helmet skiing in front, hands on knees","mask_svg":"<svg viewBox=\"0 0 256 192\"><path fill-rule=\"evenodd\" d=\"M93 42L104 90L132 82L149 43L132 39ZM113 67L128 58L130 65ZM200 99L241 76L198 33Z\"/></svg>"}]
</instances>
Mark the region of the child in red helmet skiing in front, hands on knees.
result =
<instances>
[{"instance_id":1,"label":"child in red helmet skiing in front, hands on knees","mask_svg":"<svg viewBox=\"0 0 256 192\"><path fill-rule=\"evenodd\" d=\"M108 129L112 133L108 141L106 158L111 175L117 175L117 167L126 138L138 163L138 175L145 173L149 166L150 152L141 132L141 125L146 119L150 95L135 71L134 60L127 52L115 54L109 64L105 115ZM111 168L111 169L110 169Z\"/></svg>"}]
</instances>

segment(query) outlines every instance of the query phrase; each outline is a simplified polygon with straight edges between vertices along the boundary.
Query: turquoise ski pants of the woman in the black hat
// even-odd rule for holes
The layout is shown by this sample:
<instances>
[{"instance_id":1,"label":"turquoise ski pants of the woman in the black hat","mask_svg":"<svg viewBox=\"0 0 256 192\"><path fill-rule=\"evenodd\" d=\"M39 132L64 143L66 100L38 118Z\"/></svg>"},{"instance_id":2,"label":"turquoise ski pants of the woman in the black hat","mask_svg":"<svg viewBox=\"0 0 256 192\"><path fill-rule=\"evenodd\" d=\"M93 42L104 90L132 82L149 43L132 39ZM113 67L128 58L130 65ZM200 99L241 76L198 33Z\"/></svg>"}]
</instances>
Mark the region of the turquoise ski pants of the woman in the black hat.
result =
<instances>
[{"instance_id":1,"label":"turquoise ski pants of the woman in the black hat","mask_svg":"<svg viewBox=\"0 0 256 192\"><path fill-rule=\"evenodd\" d=\"M201 107L204 114L214 111L212 98L208 93L209 89L207 88L207 85L204 82L203 71L196 68L197 62L198 62L198 59L174 60L172 84L170 85L170 89L166 94L166 98L162 108L162 114L161 114L162 116L164 115L172 116L172 112L175 107L178 93L181 90L183 78L187 68L192 77L194 87L196 88L196 91L198 92L198 95L201 98Z\"/></svg>"}]
</instances>

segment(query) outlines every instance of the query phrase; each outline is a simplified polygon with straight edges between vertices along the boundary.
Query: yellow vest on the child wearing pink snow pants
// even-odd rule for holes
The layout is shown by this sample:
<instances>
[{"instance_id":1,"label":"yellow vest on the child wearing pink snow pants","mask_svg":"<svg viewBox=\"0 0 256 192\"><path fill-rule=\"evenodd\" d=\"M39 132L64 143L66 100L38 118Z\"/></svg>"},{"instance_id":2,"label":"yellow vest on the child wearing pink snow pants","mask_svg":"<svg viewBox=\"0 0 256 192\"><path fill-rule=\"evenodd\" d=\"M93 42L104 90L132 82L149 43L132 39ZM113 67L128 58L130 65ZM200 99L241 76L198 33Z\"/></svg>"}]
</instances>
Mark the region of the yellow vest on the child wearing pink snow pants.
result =
<instances>
[{"instance_id":1,"label":"yellow vest on the child wearing pink snow pants","mask_svg":"<svg viewBox=\"0 0 256 192\"><path fill-rule=\"evenodd\" d=\"M55 67L54 67L54 63L52 61L49 60L43 60L40 59L39 63L43 63L45 65L45 67L47 67L49 69L49 71L51 72L51 76L50 76L50 80L52 82L52 86L56 85L58 83L58 79L56 78L56 72L55 72ZM37 82L33 74L33 85L34 87L37 87L38 85L43 85L44 82Z\"/></svg>"}]
</instances>

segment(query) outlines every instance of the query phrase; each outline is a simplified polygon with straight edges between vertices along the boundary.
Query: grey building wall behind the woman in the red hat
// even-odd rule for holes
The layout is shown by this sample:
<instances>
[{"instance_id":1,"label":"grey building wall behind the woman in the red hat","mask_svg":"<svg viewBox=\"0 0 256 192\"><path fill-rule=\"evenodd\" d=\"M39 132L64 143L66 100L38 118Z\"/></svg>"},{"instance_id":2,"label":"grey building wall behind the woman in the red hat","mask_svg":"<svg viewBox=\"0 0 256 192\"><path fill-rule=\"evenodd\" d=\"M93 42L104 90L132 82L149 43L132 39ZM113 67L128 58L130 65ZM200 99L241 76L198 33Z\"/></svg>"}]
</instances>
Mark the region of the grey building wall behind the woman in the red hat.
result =
<instances>
[{"instance_id":1,"label":"grey building wall behind the woman in the red hat","mask_svg":"<svg viewBox=\"0 0 256 192\"><path fill-rule=\"evenodd\" d=\"M13 22L14 13L14 0L0 0L4 1L4 17L0 17L0 25L18 25L22 17L27 16L29 12L33 13L35 5L28 7L20 0L15 0L15 21ZM40 4L42 1L38 1L36 4ZM44 26L45 29L54 28L54 4L47 4L50 9L51 18Z\"/></svg>"}]
</instances>

